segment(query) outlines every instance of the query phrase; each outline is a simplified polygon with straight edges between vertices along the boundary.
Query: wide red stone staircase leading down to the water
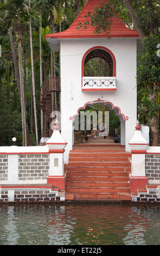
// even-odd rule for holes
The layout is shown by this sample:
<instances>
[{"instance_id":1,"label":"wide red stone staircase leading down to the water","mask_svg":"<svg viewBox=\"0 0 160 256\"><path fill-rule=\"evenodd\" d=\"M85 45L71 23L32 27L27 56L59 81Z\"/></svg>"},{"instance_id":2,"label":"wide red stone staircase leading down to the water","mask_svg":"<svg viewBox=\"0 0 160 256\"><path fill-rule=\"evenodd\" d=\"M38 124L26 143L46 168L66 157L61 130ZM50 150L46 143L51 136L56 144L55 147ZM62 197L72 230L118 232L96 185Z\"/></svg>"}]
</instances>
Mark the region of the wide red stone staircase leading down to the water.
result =
<instances>
[{"instance_id":1,"label":"wide red stone staircase leading down to the water","mask_svg":"<svg viewBox=\"0 0 160 256\"><path fill-rule=\"evenodd\" d=\"M69 153L66 200L131 200L130 153L117 144L74 146Z\"/></svg>"}]
</instances>

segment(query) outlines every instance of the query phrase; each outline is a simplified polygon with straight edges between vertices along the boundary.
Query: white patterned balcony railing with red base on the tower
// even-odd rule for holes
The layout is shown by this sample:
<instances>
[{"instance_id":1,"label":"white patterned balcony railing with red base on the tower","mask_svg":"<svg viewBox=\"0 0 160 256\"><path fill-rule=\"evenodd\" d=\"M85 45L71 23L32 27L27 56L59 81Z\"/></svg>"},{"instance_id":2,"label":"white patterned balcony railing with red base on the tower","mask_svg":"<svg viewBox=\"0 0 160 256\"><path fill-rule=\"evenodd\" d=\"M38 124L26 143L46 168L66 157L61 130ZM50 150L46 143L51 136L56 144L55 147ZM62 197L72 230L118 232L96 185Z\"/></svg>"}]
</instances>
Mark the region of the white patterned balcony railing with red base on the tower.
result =
<instances>
[{"instance_id":1,"label":"white patterned balcony railing with red base on the tower","mask_svg":"<svg viewBox=\"0 0 160 256\"><path fill-rule=\"evenodd\" d=\"M88 77L82 78L82 90L117 90L116 77Z\"/></svg>"}]
</instances>

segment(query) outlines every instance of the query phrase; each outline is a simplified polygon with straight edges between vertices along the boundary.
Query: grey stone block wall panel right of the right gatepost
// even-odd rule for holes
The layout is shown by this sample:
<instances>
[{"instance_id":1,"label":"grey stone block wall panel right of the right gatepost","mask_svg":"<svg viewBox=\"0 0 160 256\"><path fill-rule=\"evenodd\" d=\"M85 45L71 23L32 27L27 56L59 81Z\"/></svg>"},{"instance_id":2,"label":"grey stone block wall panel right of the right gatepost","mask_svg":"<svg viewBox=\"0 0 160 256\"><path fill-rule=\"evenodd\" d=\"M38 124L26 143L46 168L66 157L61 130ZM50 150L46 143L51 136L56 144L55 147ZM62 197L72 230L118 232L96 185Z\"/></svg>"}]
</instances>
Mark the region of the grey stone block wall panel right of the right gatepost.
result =
<instances>
[{"instance_id":1,"label":"grey stone block wall panel right of the right gatepost","mask_svg":"<svg viewBox=\"0 0 160 256\"><path fill-rule=\"evenodd\" d=\"M149 184L160 184L160 154L145 156L145 174Z\"/></svg>"}]
</instances>

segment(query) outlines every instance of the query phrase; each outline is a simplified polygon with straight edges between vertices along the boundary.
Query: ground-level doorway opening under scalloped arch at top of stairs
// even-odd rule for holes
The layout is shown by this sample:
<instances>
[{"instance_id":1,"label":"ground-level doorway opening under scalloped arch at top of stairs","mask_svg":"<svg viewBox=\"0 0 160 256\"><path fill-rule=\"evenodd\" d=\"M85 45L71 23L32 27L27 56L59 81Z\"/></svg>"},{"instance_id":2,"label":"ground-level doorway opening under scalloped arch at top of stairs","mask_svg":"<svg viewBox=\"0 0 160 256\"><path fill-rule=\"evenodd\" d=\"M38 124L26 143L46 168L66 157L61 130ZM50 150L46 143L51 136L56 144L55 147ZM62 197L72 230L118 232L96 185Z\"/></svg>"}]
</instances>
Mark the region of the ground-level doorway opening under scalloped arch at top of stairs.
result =
<instances>
[{"instance_id":1,"label":"ground-level doorway opening under scalloped arch at top of stairs","mask_svg":"<svg viewBox=\"0 0 160 256\"><path fill-rule=\"evenodd\" d=\"M127 119L111 102L87 102L74 116L73 144L125 145Z\"/></svg>"}]
</instances>

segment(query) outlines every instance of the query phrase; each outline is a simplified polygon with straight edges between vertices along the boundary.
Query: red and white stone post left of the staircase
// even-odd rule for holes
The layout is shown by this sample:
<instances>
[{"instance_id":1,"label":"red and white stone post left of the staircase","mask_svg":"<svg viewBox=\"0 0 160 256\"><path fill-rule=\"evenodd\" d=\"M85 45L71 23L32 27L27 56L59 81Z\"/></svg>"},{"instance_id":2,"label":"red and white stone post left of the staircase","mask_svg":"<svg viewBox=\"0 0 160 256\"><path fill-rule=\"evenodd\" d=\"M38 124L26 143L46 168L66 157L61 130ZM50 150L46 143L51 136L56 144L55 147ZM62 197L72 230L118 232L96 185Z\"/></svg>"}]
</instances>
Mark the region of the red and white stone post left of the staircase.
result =
<instances>
[{"instance_id":1,"label":"red and white stone post left of the staircase","mask_svg":"<svg viewBox=\"0 0 160 256\"><path fill-rule=\"evenodd\" d=\"M52 184L53 187L58 187L60 191L64 191L66 174L64 174L63 153L65 152L67 143L62 138L61 133L55 130L46 145L49 148L50 155L47 184Z\"/></svg>"}]
</instances>

